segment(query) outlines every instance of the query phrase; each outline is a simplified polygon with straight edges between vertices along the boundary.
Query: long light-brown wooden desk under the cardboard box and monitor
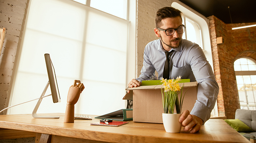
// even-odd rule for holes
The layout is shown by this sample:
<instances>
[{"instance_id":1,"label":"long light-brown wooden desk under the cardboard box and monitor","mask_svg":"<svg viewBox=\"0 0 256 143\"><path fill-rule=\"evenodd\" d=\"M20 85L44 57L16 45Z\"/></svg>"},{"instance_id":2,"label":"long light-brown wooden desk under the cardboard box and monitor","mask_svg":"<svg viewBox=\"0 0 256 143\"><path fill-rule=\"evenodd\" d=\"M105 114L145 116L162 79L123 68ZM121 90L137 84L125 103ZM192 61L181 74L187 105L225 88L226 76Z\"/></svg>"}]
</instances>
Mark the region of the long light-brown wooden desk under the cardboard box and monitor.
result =
<instances>
[{"instance_id":1,"label":"long light-brown wooden desk under the cardboard box and monitor","mask_svg":"<svg viewBox=\"0 0 256 143\"><path fill-rule=\"evenodd\" d=\"M49 114L47 114L49 115ZM51 142L113 142L113 143L250 143L245 137L231 128L223 119L209 119L201 130L191 134L167 133L163 124L139 123L129 121L119 127L95 126L93 120L75 120L75 123L64 123L64 114L54 114L60 119L35 119L31 114L0 115L0 128L22 130L37 133L36 142L39 142L40 133L49 134ZM1 139L1 135L0 135Z\"/></svg>"}]
</instances>

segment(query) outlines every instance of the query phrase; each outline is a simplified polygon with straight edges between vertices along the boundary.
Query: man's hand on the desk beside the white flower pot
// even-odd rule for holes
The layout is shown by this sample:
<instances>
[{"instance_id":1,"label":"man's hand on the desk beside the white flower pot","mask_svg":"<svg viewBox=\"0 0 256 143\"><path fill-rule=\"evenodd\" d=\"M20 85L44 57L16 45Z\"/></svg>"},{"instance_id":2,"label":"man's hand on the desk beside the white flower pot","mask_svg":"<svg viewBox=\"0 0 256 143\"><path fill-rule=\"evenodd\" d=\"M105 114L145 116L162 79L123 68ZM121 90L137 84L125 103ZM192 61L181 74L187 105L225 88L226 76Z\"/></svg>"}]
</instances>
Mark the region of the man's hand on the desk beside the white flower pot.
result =
<instances>
[{"instance_id":1,"label":"man's hand on the desk beside the white flower pot","mask_svg":"<svg viewBox=\"0 0 256 143\"><path fill-rule=\"evenodd\" d=\"M184 131L190 131L190 133L197 132L200 130L201 125L203 125L203 120L195 115L191 115L188 110L181 114L179 122L184 126Z\"/></svg>"}]
</instances>

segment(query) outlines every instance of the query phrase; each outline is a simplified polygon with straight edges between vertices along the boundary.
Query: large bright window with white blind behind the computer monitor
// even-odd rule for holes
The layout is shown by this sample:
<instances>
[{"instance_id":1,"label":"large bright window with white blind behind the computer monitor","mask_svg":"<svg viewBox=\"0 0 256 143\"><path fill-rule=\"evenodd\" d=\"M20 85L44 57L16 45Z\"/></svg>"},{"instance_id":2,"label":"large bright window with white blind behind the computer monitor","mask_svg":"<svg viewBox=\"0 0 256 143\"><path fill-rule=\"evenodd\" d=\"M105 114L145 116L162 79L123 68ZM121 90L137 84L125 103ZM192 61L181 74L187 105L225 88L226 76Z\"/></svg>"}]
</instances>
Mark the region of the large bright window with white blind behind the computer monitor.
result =
<instances>
[{"instance_id":1,"label":"large bright window with white blind behind the computer monitor","mask_svg":"<svg viewBox=\"0 0 256 143\"><path fill-rule=\"evenodd\" d=\"M85 85L76 113L103 115L125 108L128 29L128 20L76 1L30 0L9 106L40 97L48 81L44 54L49 53L62 102L43 98L38 113L65 113L74 80ZM36 102L7 112L30 114Z\"/></svg>"}]
</instances>

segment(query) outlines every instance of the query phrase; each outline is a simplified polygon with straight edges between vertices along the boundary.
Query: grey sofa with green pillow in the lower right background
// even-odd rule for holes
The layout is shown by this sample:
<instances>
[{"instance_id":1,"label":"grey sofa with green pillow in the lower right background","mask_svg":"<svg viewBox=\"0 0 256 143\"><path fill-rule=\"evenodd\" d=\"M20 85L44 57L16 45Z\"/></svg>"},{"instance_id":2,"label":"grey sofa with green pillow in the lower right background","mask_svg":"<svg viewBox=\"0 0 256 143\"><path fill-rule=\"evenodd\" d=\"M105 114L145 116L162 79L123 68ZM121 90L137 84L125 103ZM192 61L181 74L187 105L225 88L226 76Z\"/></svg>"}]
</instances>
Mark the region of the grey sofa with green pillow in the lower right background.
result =
<instances>
[{"instance_id":1,"label":"grey sofa with green pillow in the lower right background","mask_svg":"<svg viewBox=\"0 0 256 143\"><path fill-rule=\"evenodd\" d=\"M224 121L241 135L256 137L256 110L236 109L235 119Z\"/></svg>"}]
</instances>

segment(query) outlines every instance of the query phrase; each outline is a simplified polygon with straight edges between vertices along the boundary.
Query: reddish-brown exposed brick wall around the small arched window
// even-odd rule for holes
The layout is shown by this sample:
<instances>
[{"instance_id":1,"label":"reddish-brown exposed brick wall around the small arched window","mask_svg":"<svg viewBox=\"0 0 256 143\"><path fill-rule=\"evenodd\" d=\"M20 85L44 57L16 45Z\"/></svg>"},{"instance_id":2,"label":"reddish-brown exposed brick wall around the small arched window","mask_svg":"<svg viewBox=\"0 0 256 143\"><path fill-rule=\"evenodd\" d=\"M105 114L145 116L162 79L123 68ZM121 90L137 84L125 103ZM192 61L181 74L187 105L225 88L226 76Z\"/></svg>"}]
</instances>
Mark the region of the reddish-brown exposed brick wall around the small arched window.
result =
<instances>
[{"instance_id":1,"label":"reddish-brown exposed brick wall around the small arched window","mask_svg":"<svg viewBox=\"0 0 256 143\"><path fill-rule=\"evenodd\" d=\"M208 18L214 73L220 87L217 98L219 115L226 115L228 119L234 119L236 109L240 108L234 61L242 56L256 59L256 27L232 30L232 24L225 24L215 16ZM233 24L233 27L251 24L255 23ZM216 38L221 36L224 42L217 44Z\"/></svg>"}]
</instances>

